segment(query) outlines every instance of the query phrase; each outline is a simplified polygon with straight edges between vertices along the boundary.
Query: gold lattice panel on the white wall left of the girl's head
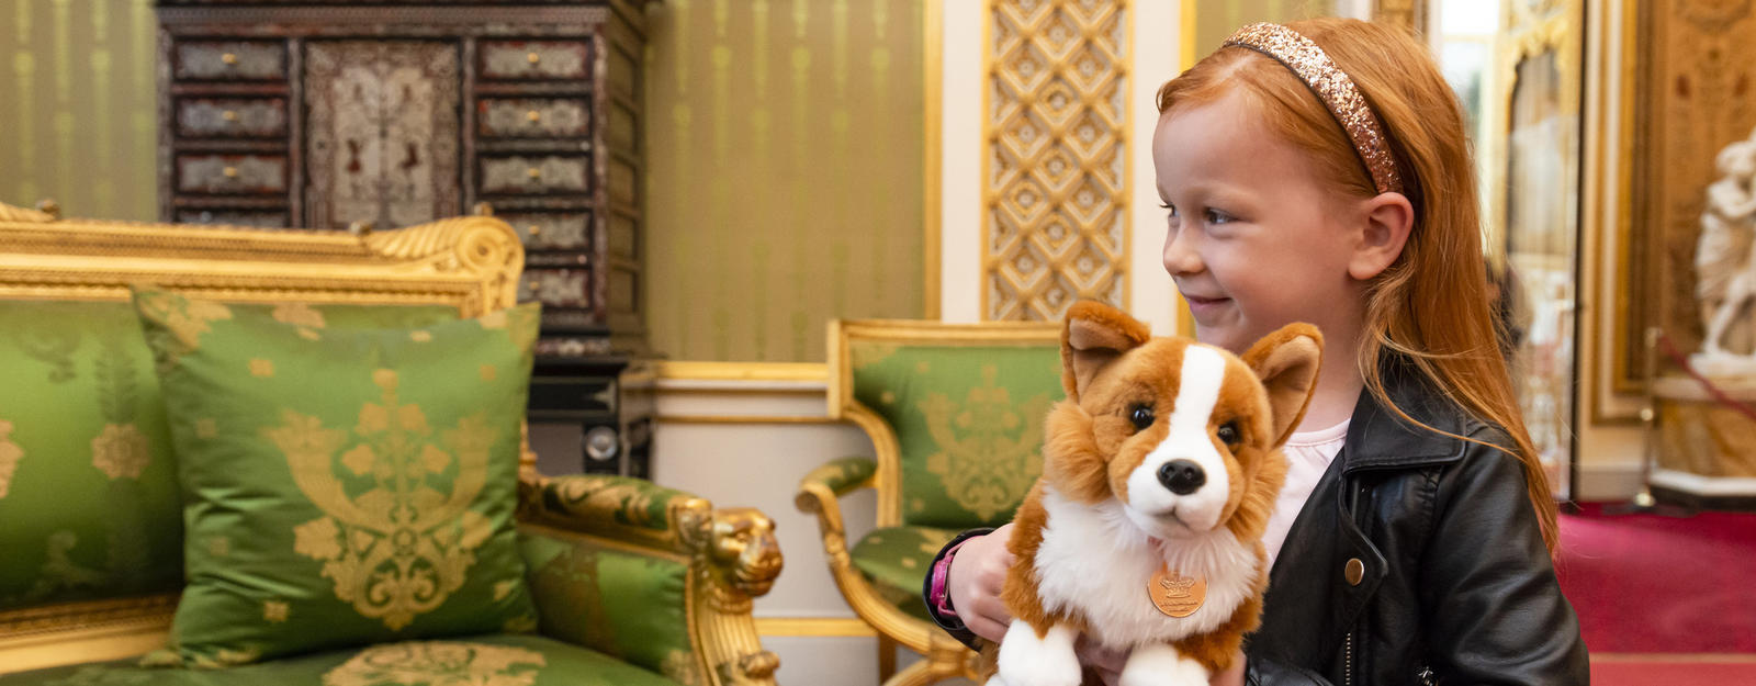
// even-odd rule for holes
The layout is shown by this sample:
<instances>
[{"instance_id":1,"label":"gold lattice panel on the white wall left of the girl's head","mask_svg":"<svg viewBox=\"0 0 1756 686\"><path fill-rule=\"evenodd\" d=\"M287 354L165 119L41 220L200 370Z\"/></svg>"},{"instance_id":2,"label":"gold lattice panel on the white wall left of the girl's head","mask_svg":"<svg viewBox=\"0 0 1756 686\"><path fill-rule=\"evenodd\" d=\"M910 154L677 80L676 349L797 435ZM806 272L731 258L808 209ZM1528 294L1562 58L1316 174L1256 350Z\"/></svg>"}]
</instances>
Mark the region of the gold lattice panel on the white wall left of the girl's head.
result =
<instances>
[{"instance_id":1,"label":"gold lattice panel on the white wall left of the girl's head","mask_svg":"<svg viewBox=\"0 0 1756 686\"><path fill-rule=\"evenodd\" d=\"M1127 5L989 0L982 318L1124 307Z\"/></svg>"}]
</instances>

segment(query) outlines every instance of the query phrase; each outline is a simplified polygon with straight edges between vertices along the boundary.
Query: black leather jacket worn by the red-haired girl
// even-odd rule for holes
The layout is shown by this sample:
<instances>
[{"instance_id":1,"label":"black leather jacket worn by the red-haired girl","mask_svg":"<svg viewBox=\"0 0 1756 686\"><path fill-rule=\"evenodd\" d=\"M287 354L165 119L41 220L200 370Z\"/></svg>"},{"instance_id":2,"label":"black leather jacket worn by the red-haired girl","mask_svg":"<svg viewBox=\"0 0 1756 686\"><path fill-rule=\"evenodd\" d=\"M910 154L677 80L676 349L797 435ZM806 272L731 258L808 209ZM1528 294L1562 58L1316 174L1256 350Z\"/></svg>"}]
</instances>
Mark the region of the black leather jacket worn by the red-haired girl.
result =
<instances>
[{"instance_id":1,"label":"black leather jacket worn by the red-haired girl","mask_svg":"<svg viewBox=\"0 0 1756 686\"><path fill-rule=\"evenodd\" d=\"M1412 374L1387 370L1385 389L1428 426L1512 446ZM957 619L934 619L973 640ZM1282 544L1245 654L1250 684L1591 679L1522 465L1414 428L1370 393Z\"/></svg>"}]
</instances>

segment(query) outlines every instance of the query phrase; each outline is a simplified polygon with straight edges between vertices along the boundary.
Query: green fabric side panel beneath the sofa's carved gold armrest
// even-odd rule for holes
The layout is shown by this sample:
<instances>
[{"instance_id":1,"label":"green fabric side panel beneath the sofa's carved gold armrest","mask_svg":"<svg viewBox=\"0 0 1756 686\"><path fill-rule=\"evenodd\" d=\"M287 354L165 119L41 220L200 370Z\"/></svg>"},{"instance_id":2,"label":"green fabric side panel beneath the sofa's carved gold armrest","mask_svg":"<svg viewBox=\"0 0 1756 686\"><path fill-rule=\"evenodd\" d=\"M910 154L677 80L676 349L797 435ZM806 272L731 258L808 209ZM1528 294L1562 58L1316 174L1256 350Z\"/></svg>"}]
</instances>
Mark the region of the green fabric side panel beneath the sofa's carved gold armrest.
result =
<instances>
[{"instance_id":1,"label":"green fabric side panel beneath the sofa's carved gold armrest","mask_svg":"<svg viewBox=\"0 0 1756 686\"><path fill-rule=\"evenodd\" d=\"M688 642L688 565L532 528L520 547L543 635L702 682Z\"/></svg>"}]
</instances>

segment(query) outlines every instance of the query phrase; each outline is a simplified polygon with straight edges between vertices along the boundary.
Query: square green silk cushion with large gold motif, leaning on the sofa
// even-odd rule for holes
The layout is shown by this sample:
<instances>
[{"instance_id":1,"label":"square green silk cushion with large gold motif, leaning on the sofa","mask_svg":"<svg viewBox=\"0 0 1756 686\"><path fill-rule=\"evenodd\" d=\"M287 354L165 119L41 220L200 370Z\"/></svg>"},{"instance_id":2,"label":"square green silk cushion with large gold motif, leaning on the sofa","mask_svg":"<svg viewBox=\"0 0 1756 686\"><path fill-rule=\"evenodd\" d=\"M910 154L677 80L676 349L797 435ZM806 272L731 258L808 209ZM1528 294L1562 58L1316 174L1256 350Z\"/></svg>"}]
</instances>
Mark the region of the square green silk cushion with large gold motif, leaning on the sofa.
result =
<instances>
[{"instance_id":1,"label":"square green silk cushion with large gold motif, leaning on the sofa","mask_svg":"<svg viewBox=\"0 0 1756 686\"><path fill-rule=\"evenodd\" d=\"M413 330L135 307L184 500L160 660L536 628L513 528L536 305Z\"/></svg>"}]
</instances>

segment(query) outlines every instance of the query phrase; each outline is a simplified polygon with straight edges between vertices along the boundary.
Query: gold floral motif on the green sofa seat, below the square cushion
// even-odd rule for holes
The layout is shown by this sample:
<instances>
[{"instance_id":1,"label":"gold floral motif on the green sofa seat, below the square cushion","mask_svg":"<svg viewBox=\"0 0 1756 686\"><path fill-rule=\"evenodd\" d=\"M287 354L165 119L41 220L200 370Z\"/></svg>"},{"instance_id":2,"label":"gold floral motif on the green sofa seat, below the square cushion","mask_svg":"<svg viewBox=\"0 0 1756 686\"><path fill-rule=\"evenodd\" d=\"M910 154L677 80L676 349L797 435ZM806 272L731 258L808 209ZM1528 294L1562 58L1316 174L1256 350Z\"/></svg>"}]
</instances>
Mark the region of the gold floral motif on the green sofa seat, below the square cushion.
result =
<instances>
[{"instance_id":1,"label":"gold floral motif on the green sofa seat, below the square cushion","mask_svg":"<svg viewBox=\"0 0 1756 686\"><path fill-rule=\"evenodd\" d=\"M374 646L323 674L323 686L530 686L543 653L472 642Z\"/></svg>"}]
</instances>

